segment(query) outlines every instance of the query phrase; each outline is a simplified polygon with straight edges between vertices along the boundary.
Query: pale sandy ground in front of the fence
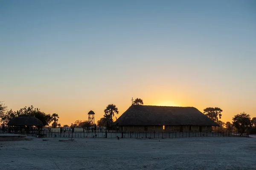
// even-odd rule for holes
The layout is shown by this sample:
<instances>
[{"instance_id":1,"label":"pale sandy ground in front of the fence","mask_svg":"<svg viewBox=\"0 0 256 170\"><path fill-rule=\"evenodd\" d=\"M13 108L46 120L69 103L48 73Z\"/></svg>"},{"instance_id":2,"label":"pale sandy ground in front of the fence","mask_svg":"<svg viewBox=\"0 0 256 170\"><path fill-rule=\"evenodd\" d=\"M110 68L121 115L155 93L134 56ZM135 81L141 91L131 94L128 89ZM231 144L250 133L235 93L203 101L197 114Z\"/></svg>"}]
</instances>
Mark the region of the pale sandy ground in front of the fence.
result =
<instances>
[{"instance_id":1,"label":"pale sandy ground in front of the fence","mask_svg":"<svg viewBox=\"0 0 256 170\"><path fill-rule=\"evenodd\" d=\"M59 139L0 142L0 170L256 169L256 138Z\"/></svg>"}]
</instances>

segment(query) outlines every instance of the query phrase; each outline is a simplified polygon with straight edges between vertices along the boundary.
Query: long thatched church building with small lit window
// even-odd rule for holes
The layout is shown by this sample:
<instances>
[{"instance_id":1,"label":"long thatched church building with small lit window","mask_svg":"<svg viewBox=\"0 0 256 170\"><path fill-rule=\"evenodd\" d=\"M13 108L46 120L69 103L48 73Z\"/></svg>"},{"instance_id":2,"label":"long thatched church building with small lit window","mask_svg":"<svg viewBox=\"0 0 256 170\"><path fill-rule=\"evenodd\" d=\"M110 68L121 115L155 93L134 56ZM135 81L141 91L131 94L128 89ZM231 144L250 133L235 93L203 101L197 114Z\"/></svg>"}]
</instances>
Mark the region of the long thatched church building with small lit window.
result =
<instances>
[{"instance_id":1,"label":"long thatched church building with small lit window","mask_svg":"<svg viewBox=\"0 0 256 170\"><path fill-rule=\"evenodd\" d=\"M121 132L209 132L219 126L195 107L143 105L131 105L114 125Z\"/></svg>"}]
</instances>

